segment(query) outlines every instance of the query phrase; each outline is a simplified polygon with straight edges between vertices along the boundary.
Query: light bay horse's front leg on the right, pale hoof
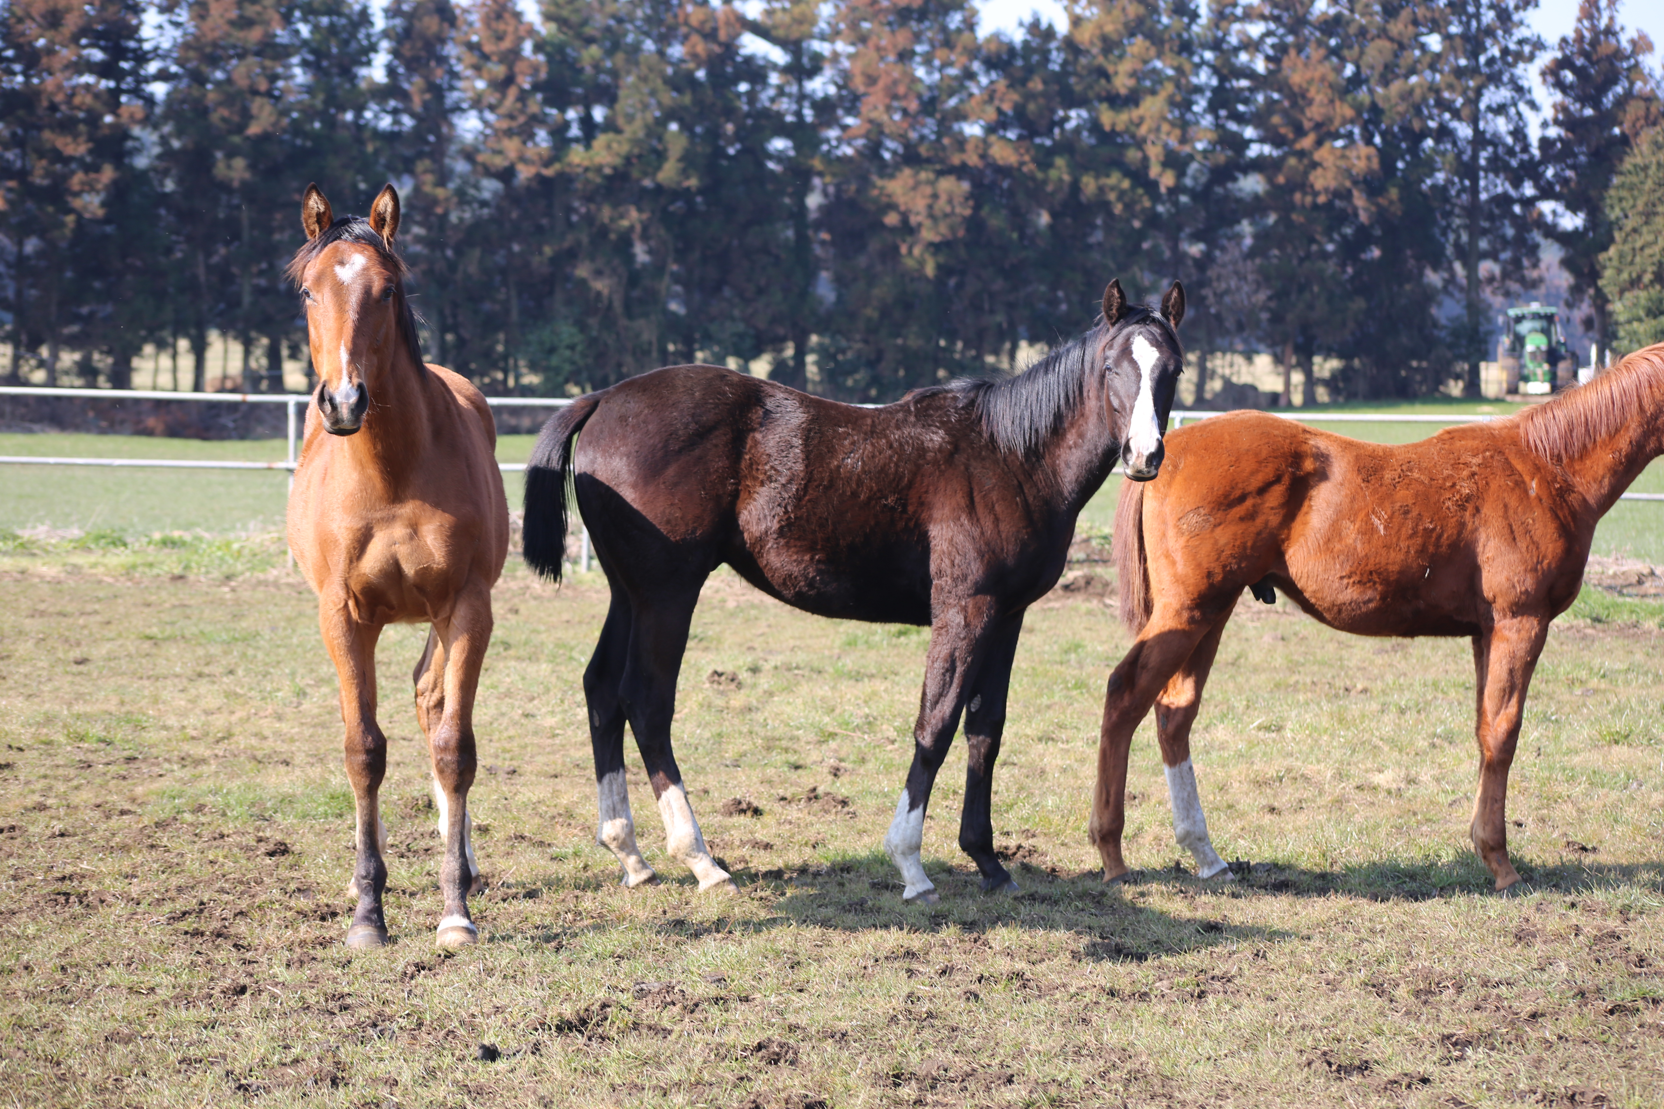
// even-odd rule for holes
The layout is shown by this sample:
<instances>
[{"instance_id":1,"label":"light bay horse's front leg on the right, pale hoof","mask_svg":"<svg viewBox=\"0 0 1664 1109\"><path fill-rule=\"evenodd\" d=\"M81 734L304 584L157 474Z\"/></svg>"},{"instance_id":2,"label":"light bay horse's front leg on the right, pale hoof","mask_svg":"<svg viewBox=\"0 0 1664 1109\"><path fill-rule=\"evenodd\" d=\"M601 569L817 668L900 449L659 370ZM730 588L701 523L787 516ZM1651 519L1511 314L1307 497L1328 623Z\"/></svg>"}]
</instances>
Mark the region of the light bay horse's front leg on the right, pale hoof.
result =
<instances>
[{"instance_id":1,"label":"light bay horse's front leg on the right, pale hoof","mask_svg":"<svg viewBox=\"0 0 1664 1109\"><path fill-rule=\"evenodd\" d=\"M449 619L438 622L438 652L444 658L443 703L438 718L429 715L428 755L433 760L434 798L444 835L444 858L439 863L439 893L444 916L436 939L441 948L459 948L479 939L479 929L468 914L468 895L474 890L479 866L469 843L468 790L474 785L474 690L479 667L491 645L491 589L479 582L466 585L451 605Z\"/></svg>"}]
</instances>

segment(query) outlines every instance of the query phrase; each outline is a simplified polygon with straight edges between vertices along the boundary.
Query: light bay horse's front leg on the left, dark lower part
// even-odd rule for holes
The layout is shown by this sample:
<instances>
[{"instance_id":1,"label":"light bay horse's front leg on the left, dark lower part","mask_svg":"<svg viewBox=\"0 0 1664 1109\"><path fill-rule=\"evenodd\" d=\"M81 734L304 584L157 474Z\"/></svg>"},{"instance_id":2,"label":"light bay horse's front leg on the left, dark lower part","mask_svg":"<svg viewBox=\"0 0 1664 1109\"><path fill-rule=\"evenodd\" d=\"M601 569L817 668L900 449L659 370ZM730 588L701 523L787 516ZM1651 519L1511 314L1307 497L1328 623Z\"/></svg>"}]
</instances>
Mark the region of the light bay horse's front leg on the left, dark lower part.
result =
<instances>
[{"instance_id":1,"label":"light bay horse's front leg on the left, dark lower part","mask_svg":"<svg viewBox=\"0 0 1664 1109\"><path fill-rule=\"evenodd\" d=\"M353 786L358 830L353 836L353 878L358 898L346 946L379 948L388 941L381 893L388 885L388 831L381 823L381 780L388 771L388 740L376 725L376 640L381 627L353 619L344 595L324 594L318 604L324 647L341 683L341 722L346 725L346 780Z\"/></svg>"}]
</instances>

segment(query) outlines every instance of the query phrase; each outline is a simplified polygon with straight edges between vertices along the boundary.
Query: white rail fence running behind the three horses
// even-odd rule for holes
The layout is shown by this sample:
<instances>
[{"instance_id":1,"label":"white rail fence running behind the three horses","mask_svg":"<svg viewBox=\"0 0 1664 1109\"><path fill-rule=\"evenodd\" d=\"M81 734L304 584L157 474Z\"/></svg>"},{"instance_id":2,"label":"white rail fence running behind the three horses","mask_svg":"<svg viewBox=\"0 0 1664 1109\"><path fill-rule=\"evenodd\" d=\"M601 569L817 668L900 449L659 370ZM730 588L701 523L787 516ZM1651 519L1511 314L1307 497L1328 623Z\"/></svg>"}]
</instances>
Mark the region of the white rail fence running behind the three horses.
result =
<instances>
[{"instance_id":1,"label":"white rail fence running behind the three horses","mask_svg":"<svg viewBox=\"0 0 1664 1109\"><path fill-rule=\"evenodd\" d=\"M293 471L296 447L300 444L301 421L298 419L303 404L311 401L310 392L170 392L166 389L50 389L45 386L0 386L0 396L12 397L90 397L98 401L210 401L215 404L283 404L288 411L288 457L281 462L221 462L213 459L72 459L58 456L33 454L0 454L0 464L18 466L116 466L133 469L181 469L181 471ZM566 397L486 397L491 407L566 407ZM874 406L864 406L874 407ZM1371 416L1368 412L1271 412L1283 419L1301 424L1479 424L1496 419L1496 416ZM1220 416L1220 412L1200 409L1178 409L1171 414L1173 427L1186 422ZM504 474L522 474L524 462L499 462ZM1619 500L1664 500L1657 492L1626 492ZM586 535L587 539L587 535Z\"/></svg>"}]
</instances>

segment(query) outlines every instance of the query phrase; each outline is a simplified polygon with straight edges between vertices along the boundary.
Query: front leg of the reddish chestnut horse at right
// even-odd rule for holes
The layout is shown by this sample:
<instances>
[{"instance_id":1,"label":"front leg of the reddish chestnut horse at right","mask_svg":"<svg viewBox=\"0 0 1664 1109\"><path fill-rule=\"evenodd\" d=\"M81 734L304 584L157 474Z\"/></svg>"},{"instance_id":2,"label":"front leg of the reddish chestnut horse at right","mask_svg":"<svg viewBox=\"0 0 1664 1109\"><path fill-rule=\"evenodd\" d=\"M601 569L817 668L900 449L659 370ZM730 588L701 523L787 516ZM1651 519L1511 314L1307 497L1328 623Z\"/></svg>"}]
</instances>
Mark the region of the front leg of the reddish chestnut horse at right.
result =
<instances>
[{"instance_id":1,"label":"front leg of the reddish chestnut horse at right","mask_svg":"<svg viewBox=\"0 0 1664 1109\"><path fill-rule=\"evenodd\" d=\"M1473 801L1469 835L1479 858L1503 891L1519 881L1508 861L1508 768L1519 742L1519 720L1526 710L1526 690L1543 653L1549 624L1538 617L1498 620L1489 632L1474 637L1473 658L1478 672L1479 791Z\"/></svg>"}]
</instances>

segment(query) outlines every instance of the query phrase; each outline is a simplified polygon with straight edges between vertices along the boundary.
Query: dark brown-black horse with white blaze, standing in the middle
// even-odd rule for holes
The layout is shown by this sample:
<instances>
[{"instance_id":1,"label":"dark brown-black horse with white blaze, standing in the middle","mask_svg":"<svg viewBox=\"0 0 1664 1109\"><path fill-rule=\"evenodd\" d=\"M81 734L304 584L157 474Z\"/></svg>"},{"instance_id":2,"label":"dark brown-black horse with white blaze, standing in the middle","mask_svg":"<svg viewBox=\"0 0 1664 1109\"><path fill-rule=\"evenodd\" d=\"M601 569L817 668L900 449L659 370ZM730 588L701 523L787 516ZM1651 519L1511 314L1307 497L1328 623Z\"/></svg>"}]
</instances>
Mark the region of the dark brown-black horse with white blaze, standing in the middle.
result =
<instances>
[{"instance_id":1,"label":"dark brown-black horse with white blaze, standing in the middle","mask_svg":"<svg viewBox=\"0 0 1664 1109\"><path fill-rule=\"evenodd\" d=\"M902 896L937 901L920 863L925 803L963 712L958 845L983 890L1015 890L993 855L988 790L1023 612L1057 582L1075 515L1115 462L1143 479L1161 466L1183 314L1178 283L1156 314L1128 306L1115 281L1097 328L1003 381L865 409L716 366L672 366L581 397L544 426L526 471L526 560L559 579L574 479L612 590L584 695L596 838L617 855L624 885L654 876L624 786L627 720L669 855L701 890L732 886L671 752L689 620L726 562L807 612L930 627L914 763L884 846Z\"/></svg>"}]
</instances>

